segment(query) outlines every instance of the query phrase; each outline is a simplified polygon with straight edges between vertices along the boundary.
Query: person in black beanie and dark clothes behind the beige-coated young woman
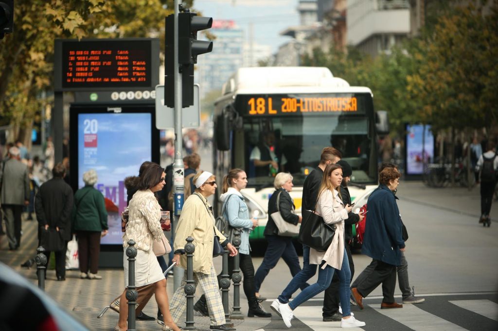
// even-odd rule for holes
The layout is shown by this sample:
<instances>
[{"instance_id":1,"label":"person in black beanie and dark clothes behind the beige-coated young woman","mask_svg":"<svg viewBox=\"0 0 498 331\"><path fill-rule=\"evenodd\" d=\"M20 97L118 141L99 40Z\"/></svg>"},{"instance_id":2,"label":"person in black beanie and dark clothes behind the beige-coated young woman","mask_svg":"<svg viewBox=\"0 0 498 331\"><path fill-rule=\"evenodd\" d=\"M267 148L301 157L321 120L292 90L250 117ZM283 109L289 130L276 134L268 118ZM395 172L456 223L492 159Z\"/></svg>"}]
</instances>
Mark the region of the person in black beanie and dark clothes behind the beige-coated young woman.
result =
<instances>
[{"instance_id":1,"label":"person in black beanie and dark clothes behind the beige-coated young woman","mask_svg":"<svg viewBox=\"0 0 498 331\"><path fill-rule=\"evenodd\" d=\"M340 165L343 170L343 181L341 183L341 199L345 206L350 205L351 195L348 189L348 182L351 180L353 169L351 168L351 165L349 165L349 163L343 160L338 161L336 164ZM349 247L348 243L353 238L352 225L360 222L363 217L363 215L350 212L348 213L348 219L344 221L346 253L348 254L349 267L351 269L351 279L353 279L353 276L355 274L355 264L353 263L353 256L351 255L351 248ZM322 316L324 322L338 322L342 319L342 314L339 313L339 285L340 280L336 272L332 277L332 282L330 283L329 287L325 290L325 295L323 298Z\"/></svg>"}]
</instances>

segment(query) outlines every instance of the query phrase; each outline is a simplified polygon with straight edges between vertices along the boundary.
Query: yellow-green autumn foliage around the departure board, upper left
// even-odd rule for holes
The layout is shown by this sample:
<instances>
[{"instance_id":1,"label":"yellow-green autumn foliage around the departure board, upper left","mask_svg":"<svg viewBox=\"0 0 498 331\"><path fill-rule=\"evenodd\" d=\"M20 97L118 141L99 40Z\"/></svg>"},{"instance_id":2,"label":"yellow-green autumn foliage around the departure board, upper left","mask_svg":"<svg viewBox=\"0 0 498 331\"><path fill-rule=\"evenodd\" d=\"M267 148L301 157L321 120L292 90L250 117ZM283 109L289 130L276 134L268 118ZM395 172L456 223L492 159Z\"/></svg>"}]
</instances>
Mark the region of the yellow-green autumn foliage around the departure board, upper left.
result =
<instances>
[{"instance_id":1,"label":"yellow-green autumn foliage around the departure board, upper left","mask_svg":"<svg viewBox=\"0 0 498 331\"><path fill-rule=\"evenodd\" d=\"M53 89L54 39L162 41L164 17L172 12L173 0L16 0L14 33L0 41L1 124L29 129L35 112L51 102L44 96Z\"/></svg>"}]
</instances>

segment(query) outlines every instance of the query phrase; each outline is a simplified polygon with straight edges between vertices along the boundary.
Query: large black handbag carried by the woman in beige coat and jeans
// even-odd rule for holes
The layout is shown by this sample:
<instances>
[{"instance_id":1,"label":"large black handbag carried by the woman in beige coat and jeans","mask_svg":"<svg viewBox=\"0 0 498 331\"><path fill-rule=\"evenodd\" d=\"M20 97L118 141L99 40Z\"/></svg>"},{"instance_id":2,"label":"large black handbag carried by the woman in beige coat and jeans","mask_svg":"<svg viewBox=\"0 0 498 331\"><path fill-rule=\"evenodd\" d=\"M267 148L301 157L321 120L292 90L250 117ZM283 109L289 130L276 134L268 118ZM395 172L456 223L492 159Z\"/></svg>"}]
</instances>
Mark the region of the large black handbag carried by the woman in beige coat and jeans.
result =
<instances>
[{"instance_id":1,"label":"large black handbag carried by the woman in beige coat and jeans","mask_svg":"<svg viewBox=\"0 0 498 331\"><path fill-rule=\"evenodd\" d=\"M323 217L312 211L303 211L303 221L297 241L318 251L326 251L334 235L336 227L325 223Z\"/></svg>"}]
</instances>

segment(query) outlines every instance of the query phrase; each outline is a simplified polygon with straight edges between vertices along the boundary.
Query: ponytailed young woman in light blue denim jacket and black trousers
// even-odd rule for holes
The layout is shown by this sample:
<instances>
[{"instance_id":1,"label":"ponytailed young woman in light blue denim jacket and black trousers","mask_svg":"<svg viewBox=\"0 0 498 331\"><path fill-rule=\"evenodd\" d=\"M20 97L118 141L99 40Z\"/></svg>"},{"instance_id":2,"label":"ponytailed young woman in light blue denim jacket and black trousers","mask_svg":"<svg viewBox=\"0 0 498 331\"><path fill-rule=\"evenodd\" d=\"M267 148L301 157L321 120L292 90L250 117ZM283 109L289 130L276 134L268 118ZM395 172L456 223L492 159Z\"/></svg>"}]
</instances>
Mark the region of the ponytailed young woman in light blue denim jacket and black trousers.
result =
<instances>
[{"instance_id":1,"label":"ponytailed young woman in light blue denim jacket and black trousers","mask_svg":"<svg viewBox=\"0 0 498 331\"><path fill-rule=\"evenodd\" d=\"M254 290L254 265L250 256L249 233L257 227L258 221L255 218L249 219L249 208L244 201L241 190L248 184L246 171L243 169L232 169L223 178L222 191L220 200L223 202L222 213L218 220L228 223L223 228L229 229L224 233L229 239L234 229L241 232L241 245L239 247L239 266L244 275L243 286L244 293L249 303L249 317L271 317L270 313L265 312L258 303ZM220 219L221 218L221 219ZM218 227L220 231L222 229ZM228 270L230 277L234 273L235 258L229 256ZM218 275L218 283L221 280L221 273ZM206 298L204 295L194 305L194 310L209 316Z\"/></svg>"}]
</instances>

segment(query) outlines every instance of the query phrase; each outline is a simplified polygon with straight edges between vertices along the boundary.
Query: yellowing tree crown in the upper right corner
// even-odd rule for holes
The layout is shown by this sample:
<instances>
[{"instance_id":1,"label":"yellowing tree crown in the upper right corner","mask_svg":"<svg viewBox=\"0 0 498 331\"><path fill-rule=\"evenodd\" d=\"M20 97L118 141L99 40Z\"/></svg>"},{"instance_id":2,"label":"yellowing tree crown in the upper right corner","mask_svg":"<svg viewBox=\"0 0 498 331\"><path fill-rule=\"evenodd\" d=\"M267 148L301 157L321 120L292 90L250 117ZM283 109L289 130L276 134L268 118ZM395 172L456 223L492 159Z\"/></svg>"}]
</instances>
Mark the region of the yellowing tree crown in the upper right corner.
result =
<instances>
[{"instance_id":1,"label":"yellowing tree crown in the upper right corner","mask_svg":"<svg viewBox=\"0 0 498 331\"><path fill-rule=\"evenodd\" d=\"M422 102L419 117L436 131L496 125L497 21L498 5L490 16L472 4L458 7L414 41L413 57L423 61L407 77L407 88Z\"/></svg>"}]
</instances>

